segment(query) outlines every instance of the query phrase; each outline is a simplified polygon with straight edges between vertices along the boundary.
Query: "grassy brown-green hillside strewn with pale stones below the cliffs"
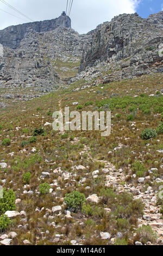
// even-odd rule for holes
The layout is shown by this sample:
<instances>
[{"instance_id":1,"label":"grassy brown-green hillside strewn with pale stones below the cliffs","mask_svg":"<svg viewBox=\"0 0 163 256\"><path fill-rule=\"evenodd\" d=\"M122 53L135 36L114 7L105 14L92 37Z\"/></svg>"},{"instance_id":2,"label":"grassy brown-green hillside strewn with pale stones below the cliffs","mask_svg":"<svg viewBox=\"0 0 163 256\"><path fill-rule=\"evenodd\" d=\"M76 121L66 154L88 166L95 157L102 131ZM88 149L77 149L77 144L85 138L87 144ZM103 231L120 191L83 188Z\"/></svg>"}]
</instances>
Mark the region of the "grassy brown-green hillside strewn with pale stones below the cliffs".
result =
<instances>
[{"instance_id":1,"label":"grassy brown-green hillside strewn with pale stones below the cliffs","mask_svg":"<svg viewBox=\"0 0 163 256\"><path fill-rule=\"evenodd\" d=\"M0 162L7 163L0 169L0 185L14 190L20 199L15 209L26 212L0 234L15 231L11 242L15 245L24 240L32 245L71 245L72 240L79 245L158 243L156 236L159 241L163 236L163 205L156 198L163 185L163 77L142 76L73 91L83 84L75 82L31 101L9 100L8 108L0 109ZM64 112L65 106L70 111L111 109L111 135L61 133L45 126L53 123L52 113L60 108ZM39 127L42 135L36 134ZM156 137L141 138L147 128L156 130ZM27 172L29 180L23 178ZM139 178L145 179L139 182ZM44 182L50 187L42 194ZM65 195L73 191L84 198L96 194L97 202L87 199L72 206ZM103 239L102 232L108 232L110 239Z\"/></svg>"}]
</instances>

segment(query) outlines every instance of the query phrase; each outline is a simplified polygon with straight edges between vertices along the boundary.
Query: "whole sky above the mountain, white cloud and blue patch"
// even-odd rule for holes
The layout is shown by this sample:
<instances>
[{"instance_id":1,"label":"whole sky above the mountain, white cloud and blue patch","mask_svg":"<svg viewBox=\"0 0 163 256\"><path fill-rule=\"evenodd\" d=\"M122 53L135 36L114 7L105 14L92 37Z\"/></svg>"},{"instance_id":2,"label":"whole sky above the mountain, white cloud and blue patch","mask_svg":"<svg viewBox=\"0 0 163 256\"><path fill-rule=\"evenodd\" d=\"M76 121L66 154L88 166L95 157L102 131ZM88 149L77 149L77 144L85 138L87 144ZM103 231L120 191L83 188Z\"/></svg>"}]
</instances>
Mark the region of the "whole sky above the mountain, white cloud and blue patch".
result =
<instances>
[{"instance_id":1,"label":"whole sky above the mountain, white cloud and blue patch","mask_svg":"<svg viewBox=\"0 0 163 256\"><path fill-rule=\"evenodd\" d=\"M67 0L5 0L5 2L30 19L42 21L59 17L62 11L66 10ZM163 10L163 0L73 0L70 17L72 28L83 34L119 14L137 12L141 17L146 18L149 14L161 10ZM0 0L0 29L26 22L30 20L16 13Z\"/></svg>"}]
</instances>

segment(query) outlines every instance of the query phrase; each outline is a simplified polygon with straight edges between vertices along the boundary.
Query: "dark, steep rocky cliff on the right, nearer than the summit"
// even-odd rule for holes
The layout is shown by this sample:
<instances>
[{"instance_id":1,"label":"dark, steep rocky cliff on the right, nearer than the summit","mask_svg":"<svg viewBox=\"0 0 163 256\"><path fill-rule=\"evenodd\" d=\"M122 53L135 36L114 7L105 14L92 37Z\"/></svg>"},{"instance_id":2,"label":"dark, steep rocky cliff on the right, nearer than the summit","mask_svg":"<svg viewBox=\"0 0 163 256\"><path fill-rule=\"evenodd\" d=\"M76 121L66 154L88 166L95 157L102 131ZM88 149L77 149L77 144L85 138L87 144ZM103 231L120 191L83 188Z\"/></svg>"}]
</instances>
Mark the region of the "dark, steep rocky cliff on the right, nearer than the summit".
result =
<instances>
[{"instance_id":1,"label":"dark, steep rocky cliff on the right, nearer than the summit","mask_svg":"<svg viewBox=\"0 0 163 256\"><path fill-rule=\"evenodd\" d=\"M92 33L89 48L83 53L79 72L102 62L108 65L111 77L115 71L119 71L118 78L140 76L153 69L163 71L162 58L158 54L163 30L158 23L153 24L153 17L155 20L157 15L146 20L137 14L123 14L99 25Z\"/></svg>"}]
</instances>

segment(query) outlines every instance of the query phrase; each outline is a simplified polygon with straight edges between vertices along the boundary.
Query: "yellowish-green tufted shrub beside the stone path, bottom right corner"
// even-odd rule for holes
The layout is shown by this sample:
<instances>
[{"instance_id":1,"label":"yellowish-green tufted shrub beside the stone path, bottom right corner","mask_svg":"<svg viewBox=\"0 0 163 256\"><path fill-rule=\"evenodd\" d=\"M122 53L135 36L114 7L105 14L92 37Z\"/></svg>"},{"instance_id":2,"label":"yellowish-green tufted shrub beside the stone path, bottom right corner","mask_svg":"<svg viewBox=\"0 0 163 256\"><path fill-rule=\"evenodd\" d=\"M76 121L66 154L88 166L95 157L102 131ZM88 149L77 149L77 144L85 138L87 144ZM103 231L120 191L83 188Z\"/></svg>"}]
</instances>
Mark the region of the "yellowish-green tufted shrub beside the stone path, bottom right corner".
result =
<instances>
[{"instance_id":1,"label":"yellowish-green tufted shrub beside the stone path, bottom right corner","mask_svg":"<svg viewBox=\"0 0 163 256\"><path fill-rule=\"evenodd\" d=\"M139 229L136 231L137 235L139 236L139 240L142 243L146 243L148 241L154 243L157 239L156 233L153 231L151 226L142 225Z\"/></svg>"}]
</instances>

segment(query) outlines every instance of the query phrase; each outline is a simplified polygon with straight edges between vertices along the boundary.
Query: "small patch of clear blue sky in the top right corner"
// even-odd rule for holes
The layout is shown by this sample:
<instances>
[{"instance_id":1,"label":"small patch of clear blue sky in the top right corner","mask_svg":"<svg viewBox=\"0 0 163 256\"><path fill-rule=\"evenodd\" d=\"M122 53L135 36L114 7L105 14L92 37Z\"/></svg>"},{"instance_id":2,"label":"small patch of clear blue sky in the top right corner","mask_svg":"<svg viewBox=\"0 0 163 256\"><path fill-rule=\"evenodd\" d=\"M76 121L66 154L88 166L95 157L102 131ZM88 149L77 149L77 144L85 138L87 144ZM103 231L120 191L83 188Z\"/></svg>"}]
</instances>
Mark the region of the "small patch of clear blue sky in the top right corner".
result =
<instances>
[{"instance_id":1,"label":"small patch of clear blue sky in the top right corner","mask_svg":"<svg viewBox=\"0 0 163 256\"><path fill-rule=\"evenodd\" d=\"M136 12L143 18L163 10L163 0L141 0Z\"/></svg>"}]
</instances>

